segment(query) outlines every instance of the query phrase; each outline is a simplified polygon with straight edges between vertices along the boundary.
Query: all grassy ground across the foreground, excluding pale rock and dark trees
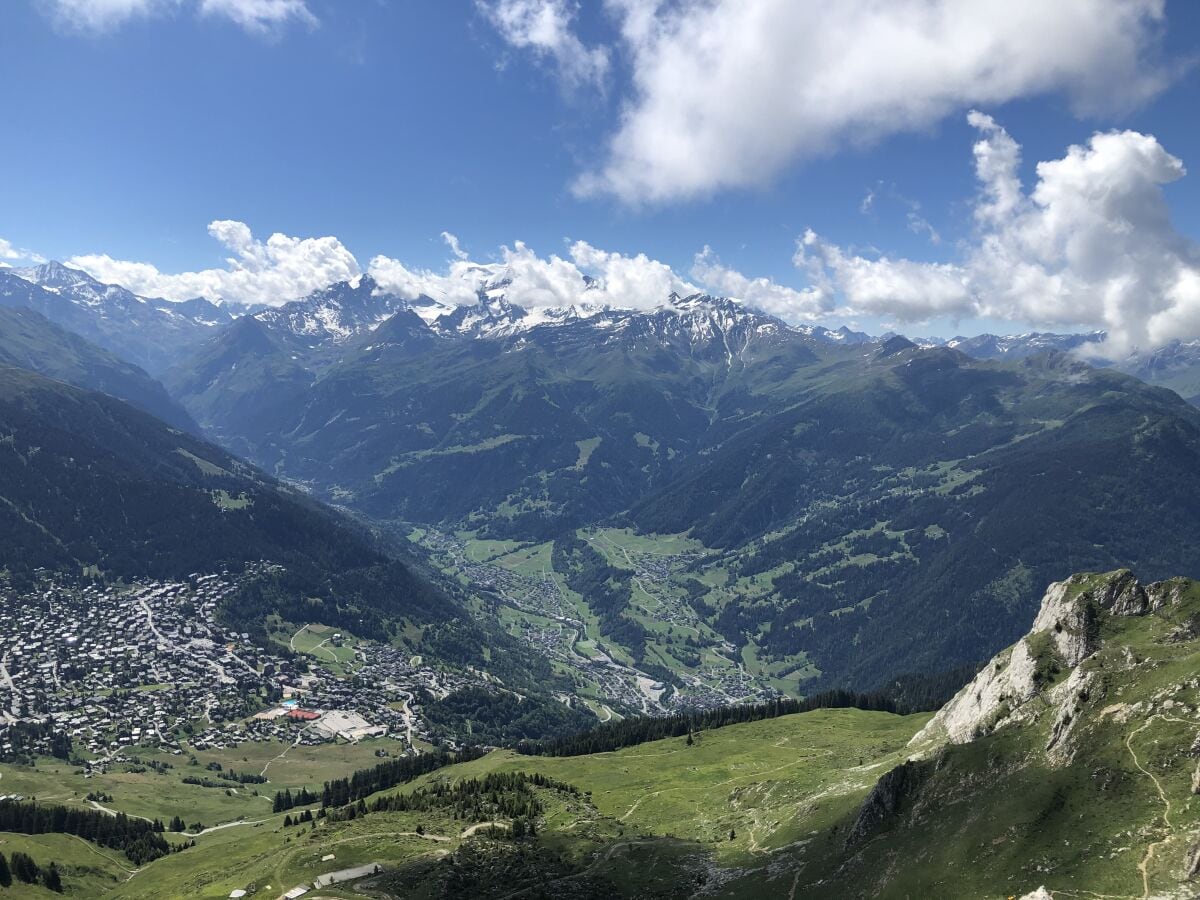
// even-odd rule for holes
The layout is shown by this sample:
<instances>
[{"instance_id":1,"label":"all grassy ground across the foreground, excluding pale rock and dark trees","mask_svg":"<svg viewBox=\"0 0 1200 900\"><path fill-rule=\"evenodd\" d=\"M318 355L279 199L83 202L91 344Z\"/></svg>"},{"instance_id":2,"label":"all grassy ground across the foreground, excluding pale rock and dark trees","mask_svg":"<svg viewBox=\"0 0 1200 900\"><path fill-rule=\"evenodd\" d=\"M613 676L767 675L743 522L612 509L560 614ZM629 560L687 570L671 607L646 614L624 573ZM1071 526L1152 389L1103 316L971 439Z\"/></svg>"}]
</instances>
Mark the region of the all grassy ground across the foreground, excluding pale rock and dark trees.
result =
<instances>
[{"instance_id":1,"label":"all grassy ground across the foreground, excluding pale rock and dark trees","mask_svg":"<svg viewBox=\"0 0 1200 900\"><path fill-rule=\"evenodd\" d=\"M1177 599L1156 613L1102 616L1104 646L1080 667L1093 676L1086 696L1062 671L1010 724L965 745L910 748L926 715L817 710L704 732L690 746L672 738L565 758L496 751L398 788L522 770L584 792L541 791L540 836L523 848L484 836L467 841L467 823L443 812L371 814L314 830L282 829L282 816L264 815L202 835L196 847L124 881L119 866L106 869L80 842L56 847L56 858L68 866L73 893L95 895L103 881L114 898L217 898L250 883L270 884L274 896L318 874L376 862L391 870L400 895L428 898L448 895L448 872L474 878L478 896L533 884L550 896L686 896L706 883L715 896L793 900L1008 898L1039 884L1064 896L1192 896L1181 878L1200 836L1189 752L1200 732L1200 638L1192 637L1200 634L1200 588L1181 584ZM1048 754L1064 702L1075 727L1062 752ZM280 766L281 784L316 784L370 762L334 763L317 758L329 749L308 752L314 758L306 764ZM913 754L923 757L918 787L847 848L868 792ZM223 762L250 768L258 760ZM4 775L6 788L40 787L11 769ZM61 773L49 770L25 778L47 779L44 791L54 779L61 784ZM88 787L112 791L114 806L172 814L166 798L178 788L139 793L126 780L133 776L107 778ZM208 802L228 803L226 817L242 815L244 800L209 793ZM322 862L331 852L336 858ZM330 888L323 895L354 894Z\"/></svg>"}]
</instances>

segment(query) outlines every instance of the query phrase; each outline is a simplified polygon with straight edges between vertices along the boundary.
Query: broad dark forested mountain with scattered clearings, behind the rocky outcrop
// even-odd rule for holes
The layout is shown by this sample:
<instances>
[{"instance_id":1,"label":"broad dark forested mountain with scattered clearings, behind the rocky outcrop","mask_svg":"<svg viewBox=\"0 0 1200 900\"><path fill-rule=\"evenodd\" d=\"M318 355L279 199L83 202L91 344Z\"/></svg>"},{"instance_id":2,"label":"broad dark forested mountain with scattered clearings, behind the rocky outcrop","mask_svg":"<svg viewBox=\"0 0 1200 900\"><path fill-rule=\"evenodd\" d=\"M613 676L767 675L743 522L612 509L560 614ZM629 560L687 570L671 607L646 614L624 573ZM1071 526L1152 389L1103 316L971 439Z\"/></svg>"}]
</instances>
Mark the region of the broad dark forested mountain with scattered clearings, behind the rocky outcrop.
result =
<instances>
[{"instance_id":1,"label":"broad dark forested mountain with scattered clearings, behind the rocky outcrop","mask_svg":"<svg viewBox=\"0 0 1200 900\"><path fill-rule=\"evenodd\" d=\"M1064 566L1192 570L1200 415L1175 394L1062 355L888 349L630 510L736 551L731 641L869 686L983 658Z\"/></svg>"}]
</instances>

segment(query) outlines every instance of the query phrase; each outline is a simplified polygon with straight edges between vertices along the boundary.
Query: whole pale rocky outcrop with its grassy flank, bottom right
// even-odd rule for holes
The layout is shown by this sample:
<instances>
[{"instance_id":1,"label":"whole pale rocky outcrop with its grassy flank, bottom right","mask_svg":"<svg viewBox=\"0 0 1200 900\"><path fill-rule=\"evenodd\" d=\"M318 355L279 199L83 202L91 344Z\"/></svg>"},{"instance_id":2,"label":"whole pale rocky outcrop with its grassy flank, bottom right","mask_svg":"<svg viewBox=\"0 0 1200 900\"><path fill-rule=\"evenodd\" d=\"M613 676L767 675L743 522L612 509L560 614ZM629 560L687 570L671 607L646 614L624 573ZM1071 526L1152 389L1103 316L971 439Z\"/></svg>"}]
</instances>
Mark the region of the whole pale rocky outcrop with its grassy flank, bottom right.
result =
<instances>
[{"instance_id":1,"label":"whole pale rocky outcrop with its grassy flank, bottom right","mask_svg":"<svg viewBox=\"0 0 1200 900\"><path fill-rule=\"evenodd\" d=\"M1200 896L1200 582L1051 584L910 751L847 823L846 895Z\"/></svg>"}]
</instances>

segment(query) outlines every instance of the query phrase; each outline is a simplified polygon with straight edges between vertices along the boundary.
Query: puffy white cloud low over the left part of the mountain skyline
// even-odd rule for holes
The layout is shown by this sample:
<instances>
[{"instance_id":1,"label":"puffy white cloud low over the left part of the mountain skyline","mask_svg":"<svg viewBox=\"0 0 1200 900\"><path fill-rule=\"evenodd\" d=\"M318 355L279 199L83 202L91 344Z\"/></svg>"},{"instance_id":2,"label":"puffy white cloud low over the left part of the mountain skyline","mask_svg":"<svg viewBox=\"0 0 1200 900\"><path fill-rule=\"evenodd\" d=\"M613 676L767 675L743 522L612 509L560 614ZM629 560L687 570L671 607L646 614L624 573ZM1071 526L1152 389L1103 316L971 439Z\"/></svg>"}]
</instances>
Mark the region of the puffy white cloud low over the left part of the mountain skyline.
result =
<instances>
[{"instance_id":1,"label":"puffy white cloud low over the left part of the mountain skyline","mask_svg":"<svg viewBox=\"0 0 1200 900\"><path fill-rule=\"evenodd\" d=\"M337 238L289 238L272 234L257 240L244 222L221 220L209 234L233 256L224 269L167 274L150 263L113 259L107 253L72 257L67 265L137 294L187 300L193 296L278 305L335 281L360 275L358 260Z\"/></svg>"}]
</instances>

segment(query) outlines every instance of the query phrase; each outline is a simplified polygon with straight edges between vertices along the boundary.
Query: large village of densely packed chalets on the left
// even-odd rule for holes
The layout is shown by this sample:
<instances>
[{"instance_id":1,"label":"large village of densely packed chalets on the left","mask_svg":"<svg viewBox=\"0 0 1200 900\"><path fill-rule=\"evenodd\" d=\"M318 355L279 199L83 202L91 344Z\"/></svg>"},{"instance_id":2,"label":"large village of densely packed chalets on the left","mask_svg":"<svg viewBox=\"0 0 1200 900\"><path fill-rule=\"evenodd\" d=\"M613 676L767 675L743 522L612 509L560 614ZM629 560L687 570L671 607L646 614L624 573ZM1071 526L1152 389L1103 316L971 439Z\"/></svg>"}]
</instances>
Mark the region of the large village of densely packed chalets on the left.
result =
<instances>
[{"instance_id":1,"label":"large village of densely packed chalets on the left","mask_svg":"<svg viewBox=\"0 0 1200 900\"><path fill-rule=\"evenodd\" d=\"M0 760L70 748L96 768L136 748L379 736L418 752L434 740L419 698L475 683L374 642L354 642L353 684L312 658L263 649L217 623L222 601L256 574L122 587L46 576L28 593L0 584Z\"/></svg>"}]
</instances>

